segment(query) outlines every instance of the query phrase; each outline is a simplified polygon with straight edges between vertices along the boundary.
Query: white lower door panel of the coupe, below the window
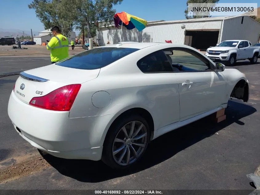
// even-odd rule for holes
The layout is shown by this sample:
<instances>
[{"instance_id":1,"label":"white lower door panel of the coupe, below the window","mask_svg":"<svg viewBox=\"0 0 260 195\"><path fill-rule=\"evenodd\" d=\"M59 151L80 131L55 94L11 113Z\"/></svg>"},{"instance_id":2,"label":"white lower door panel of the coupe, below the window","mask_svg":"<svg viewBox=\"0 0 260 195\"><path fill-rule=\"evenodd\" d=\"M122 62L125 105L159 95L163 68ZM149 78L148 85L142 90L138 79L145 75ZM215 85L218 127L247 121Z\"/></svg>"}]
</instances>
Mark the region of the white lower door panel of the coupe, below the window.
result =
<instances>
[{"instance_id":1,"label":"white lower door panel of the coupe, below the window","mask_svg":"<svg viewBox=\"0 0 260 195\"><path fill-rule=\"evenodd\" d=\"M226 87L226 80L221 72L176 72L176 76L179 82L180 121L226 103L225 95L220 93Z\"/></svg>"}]
</instances>

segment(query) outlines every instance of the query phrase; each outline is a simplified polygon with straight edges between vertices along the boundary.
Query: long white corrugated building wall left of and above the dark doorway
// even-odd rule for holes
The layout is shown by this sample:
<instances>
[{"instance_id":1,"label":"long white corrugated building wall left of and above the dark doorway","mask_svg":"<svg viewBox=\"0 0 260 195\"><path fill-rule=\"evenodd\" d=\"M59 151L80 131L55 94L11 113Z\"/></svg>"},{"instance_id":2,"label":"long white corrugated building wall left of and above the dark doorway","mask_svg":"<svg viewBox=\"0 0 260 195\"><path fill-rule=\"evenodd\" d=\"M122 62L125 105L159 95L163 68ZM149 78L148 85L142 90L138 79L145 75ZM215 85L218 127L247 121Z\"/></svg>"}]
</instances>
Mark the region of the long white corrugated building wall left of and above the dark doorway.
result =
<instances>
[{"instance_id":1,"label":"long white corrugated building wall left of and above the dark doorway","mask_svg":"<svg viewBox=\"0 0 260 195\"><path fill-rule=\"evenodd\" d=\"M185 25L186 28L182 29L181 26ZM135 42L158 42L165 43L165 40L171 40L172 43L184 44L185 30L206 30L206 29L220 29L221 21L207 21L207 22L188 22L188 23L166 23L166 24L152 24L148 25L142 32L138 30L126 30L123 26L122 42L135 41ZM121 29L110 27L99 28L97 32L97 42L100 45L105 45L108 41L110 44L120 42Z\"/></svg>"}]
</instances>

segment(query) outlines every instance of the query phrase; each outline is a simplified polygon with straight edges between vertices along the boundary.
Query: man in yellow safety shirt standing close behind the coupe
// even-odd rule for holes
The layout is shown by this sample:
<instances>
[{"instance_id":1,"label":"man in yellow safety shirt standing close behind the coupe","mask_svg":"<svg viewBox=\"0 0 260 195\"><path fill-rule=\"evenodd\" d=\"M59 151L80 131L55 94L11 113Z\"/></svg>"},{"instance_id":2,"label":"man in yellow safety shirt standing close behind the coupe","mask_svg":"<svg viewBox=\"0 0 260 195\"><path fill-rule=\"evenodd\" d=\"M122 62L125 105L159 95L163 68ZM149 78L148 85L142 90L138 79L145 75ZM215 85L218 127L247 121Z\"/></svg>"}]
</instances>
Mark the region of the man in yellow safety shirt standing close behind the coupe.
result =
<instances>
[{"instance_id":1,"label":"man in yellow safety shirt standing close behind the coupe","mask_svg":"<svg viewBox=\"0 0 260 195\"><path fill-rule=\"evenodd\" d=\"M50 61L53 64L69 57L69 41L61 34L58 26L54 26L50 30L54 37L48 42L47 50L50 50Z\"/></svg>"}]
</instances>

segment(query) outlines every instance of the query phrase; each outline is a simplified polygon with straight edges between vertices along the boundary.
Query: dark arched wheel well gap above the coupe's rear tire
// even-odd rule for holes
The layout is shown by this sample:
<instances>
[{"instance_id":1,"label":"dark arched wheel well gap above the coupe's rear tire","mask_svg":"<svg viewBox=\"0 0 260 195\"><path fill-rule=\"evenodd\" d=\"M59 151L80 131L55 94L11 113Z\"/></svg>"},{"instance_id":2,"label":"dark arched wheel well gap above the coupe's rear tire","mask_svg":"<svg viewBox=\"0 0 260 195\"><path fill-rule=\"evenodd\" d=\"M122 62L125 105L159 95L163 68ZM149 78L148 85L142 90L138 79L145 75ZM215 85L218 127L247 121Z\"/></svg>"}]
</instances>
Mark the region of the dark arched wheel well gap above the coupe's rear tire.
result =
<instances>
[{"instance_id":1,"label":"dark arched wheel well gap above the coupe's rear tire","mask_svg":"<svg viewBox=\"0 0 260 195\"><path fill-rule=\"evenodd\" d=\"M153 120L153 117L150 114L150 112L148 112L144 108L131 108L129 110L126 110L125 112L121 113L113 121L113 123L110 125L110 127L113 126L115 123L117 123L117 121L120 120L121 118L129 116L131 114L139 114L140 116L142 116L147 121L147 123L149 125L149 129L150 129L150 135L151 135L151 138L152 138L154 136L154 120Z\"/></svg>"}]
</instances>

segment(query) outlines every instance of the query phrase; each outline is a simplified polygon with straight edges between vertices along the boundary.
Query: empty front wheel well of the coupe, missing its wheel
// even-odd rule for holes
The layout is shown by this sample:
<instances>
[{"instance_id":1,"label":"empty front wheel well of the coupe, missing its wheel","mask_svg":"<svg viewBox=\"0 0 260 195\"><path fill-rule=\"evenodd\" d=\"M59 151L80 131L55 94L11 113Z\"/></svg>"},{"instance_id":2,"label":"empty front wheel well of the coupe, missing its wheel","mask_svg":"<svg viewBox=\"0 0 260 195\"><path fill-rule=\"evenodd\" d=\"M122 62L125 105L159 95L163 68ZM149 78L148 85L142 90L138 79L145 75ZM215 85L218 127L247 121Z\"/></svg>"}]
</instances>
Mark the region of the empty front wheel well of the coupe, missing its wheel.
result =
<instances>
[{"instance_id":1,"label":"empty front wheel well of the coupe, missing its wheel","mask_svg":"<svg viewBox=\"0 0 260 195\"><path fill-rule=\"evenodd\" d=\"M243 100L244 102L247 102L249 99L248 92L249 92L248 83L244 79L241 79L233 88L230 97L234 97L239 100Z\"/></svg>"}]
</instances>

